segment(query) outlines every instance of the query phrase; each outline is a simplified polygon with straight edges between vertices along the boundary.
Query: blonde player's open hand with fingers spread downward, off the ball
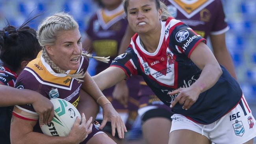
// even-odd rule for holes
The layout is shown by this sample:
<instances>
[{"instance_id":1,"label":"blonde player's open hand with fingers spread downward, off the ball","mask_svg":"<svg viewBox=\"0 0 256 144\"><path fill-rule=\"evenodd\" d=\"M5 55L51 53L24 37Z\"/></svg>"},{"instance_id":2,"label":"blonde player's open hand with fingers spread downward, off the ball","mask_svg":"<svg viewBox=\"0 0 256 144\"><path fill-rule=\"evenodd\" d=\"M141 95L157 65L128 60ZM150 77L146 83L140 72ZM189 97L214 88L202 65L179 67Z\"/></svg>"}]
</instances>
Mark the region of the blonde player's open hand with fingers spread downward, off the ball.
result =
<instances>
[{"instance_id":1,"label":"blonde player's open hand with fingers spread downward, off the ball","mask_svg":"<svg viewBox=\"0 0 256 144\"><path fill-rule=\"evenodd\" d=\"M127 132L124 122L122 122L121 116L115 111L111 103L106 103L102 106L103 121L100 124L100 129L106 125L107 122L111 122L112 136L115 136L115 128L117 128L119 138L124 138L124 132Z\"/></svg>"}]
</instances>

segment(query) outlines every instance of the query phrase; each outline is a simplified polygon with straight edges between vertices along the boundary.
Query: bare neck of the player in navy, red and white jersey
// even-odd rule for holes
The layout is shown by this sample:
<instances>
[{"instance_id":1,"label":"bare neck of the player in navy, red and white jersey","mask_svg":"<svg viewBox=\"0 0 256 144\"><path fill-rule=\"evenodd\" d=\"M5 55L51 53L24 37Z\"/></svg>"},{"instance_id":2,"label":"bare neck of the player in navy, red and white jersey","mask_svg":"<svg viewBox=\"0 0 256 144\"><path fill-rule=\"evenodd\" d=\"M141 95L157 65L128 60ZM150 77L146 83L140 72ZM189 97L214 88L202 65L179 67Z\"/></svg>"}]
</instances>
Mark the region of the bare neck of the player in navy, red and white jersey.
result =
<instances>
[{"instance_id":1,"label":"bare neck of the player in navy, red and white jersey","mask_svg":"<svg viewBox=\"0 0 256 144\"><path fill-rule=\"evenodd\" d=\"M147 50L149 53L154 53L158 48L160 36L161 36L161 22L150 33L139 34L139 38L143 43L144 49Z\"/></svg>"}]
</instances>

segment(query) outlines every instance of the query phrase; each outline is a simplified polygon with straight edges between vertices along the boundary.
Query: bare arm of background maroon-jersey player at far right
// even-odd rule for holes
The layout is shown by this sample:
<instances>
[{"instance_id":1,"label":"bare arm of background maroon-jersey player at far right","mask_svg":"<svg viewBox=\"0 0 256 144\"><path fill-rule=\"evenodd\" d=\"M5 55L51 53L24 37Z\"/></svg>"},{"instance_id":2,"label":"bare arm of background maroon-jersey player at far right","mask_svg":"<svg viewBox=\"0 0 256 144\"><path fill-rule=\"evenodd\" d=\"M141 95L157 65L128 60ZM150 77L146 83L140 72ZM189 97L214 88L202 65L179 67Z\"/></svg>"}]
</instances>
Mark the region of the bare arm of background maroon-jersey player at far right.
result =
<instances>
[{"instance_id":1,"label":"bare arm of background maroon-jersey player at far right","mask_svg":"<svg viewBox=\"0 0 256 144\"><path fill-rule=\"evenodd\" d=\"M225 33L220 35L210 35L210 38L213 53L217 61L228 70L233 78L237 79L232 58L226 47Z\"/></svg>"}]
</instances>

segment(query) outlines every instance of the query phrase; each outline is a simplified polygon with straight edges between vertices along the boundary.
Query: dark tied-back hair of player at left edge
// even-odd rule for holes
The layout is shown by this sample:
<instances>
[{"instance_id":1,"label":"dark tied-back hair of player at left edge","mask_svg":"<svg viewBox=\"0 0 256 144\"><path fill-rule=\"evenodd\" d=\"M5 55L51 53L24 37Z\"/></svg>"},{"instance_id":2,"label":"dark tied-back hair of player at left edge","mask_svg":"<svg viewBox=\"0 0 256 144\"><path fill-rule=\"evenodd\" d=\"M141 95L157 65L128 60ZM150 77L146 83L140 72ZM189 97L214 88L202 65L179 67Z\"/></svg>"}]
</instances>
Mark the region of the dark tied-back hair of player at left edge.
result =
<instances>
[{"instance_id":1,"label":"dark tied-back hair of player at left edge","mask_svg":"<svg viewBox=\"0 0 256 144\"><path fill-rule=\"evenodd\" d=\"M20 68L22 61L35 59L42 49L36 31L27 26L38 16L26 20L18 28L11 26L7 21L7 26L0 30L0 59L4 66L15 72Z\"/></svg>"}]
</instances>

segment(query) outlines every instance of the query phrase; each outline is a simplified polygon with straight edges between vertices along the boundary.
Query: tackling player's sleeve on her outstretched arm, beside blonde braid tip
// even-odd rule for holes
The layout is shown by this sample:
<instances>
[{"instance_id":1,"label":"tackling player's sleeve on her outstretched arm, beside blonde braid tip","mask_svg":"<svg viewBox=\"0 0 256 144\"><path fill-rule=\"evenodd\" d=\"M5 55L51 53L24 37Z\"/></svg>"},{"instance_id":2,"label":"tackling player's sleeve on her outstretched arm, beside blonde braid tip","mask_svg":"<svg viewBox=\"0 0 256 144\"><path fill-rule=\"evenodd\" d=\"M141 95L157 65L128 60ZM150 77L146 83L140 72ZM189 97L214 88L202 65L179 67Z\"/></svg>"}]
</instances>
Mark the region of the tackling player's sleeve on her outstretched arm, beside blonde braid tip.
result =
<instances>
[{"instance_id":1,"label":"tackling player's sleeve on her outstretched arm, beside blonde braid tip","mask_svg":"<svg viewBox=\"0 0 256 144\"><path fill-rule=\"evenodd\" d=\"M132 53L132 48L128 48L124 54L117 56L111 63L110 66L115 66L121 68L127 78L130 78L132 75L137 75L137 66L135 56Z\"/></svg>"}]
</instances>

